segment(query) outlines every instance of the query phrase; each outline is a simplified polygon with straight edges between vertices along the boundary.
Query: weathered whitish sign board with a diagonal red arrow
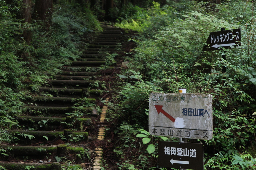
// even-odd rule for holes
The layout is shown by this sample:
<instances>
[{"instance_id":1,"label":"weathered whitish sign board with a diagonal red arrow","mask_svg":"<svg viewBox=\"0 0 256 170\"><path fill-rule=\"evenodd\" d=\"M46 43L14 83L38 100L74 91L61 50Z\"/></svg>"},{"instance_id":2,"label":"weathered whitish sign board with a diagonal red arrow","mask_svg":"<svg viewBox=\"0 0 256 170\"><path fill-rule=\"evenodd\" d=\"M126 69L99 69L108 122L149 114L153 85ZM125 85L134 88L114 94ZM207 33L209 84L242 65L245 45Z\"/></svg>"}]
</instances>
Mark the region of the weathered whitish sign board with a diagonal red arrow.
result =
<instances>
[{"instance_id":1,"label":"weathered whitish sign board with a diagonal red arrow","mask_svg":"<svg viewBox=\"0 0 256 170\"><path fill-rule=\"evenodd\" d=\"M149 133L210 140L213 138L212 103L210 94L151 93Z\"/></svg>"}]
</instances>

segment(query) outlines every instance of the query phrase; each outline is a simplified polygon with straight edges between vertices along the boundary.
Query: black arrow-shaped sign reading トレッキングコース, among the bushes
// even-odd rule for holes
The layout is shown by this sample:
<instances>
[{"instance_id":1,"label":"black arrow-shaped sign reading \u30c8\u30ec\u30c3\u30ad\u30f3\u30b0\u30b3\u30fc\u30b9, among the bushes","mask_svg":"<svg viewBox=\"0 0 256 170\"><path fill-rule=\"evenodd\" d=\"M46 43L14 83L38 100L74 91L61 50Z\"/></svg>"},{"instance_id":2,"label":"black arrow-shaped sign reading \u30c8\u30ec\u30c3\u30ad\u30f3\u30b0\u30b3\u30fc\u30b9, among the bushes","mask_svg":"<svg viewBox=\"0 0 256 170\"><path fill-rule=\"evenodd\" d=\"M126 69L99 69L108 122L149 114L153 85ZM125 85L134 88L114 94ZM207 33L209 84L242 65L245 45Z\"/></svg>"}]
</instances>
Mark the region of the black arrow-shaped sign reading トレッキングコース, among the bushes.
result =
<instances>
[{"instance_id":1,"label":"black arrow-shaped sign reading \u30c8\u30ec\u30c3\u30ad\u30f3\u30b0\u30b3\u30fc\u30b9, among the bushes","mask_svg":"<svg viewBox=\"0 0 256 170\"><path fill-rule=\"evenodd\" d=\"M211 32L206 45L203 47L203 51L213 51L221 49L223 47L225 49L236 47L241 45L241 29L233 29L233 30L225 30L225 31L217 31Z\"/></svg>"}]
</instances>

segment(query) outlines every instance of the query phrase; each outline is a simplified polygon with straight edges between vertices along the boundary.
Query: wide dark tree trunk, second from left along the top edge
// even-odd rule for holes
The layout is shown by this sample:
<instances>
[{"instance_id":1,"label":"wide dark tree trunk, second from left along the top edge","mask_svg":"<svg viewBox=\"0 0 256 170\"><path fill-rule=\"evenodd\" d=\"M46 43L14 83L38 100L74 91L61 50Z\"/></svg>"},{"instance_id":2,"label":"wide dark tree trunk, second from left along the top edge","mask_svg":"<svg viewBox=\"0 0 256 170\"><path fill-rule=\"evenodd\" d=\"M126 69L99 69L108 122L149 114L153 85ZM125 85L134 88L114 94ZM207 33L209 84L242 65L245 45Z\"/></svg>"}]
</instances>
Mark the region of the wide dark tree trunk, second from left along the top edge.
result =
<instances>
[{"instance_id":1,"label":"wide dark tree trunk, second from left along the top edge","mask_svg":"<svg viewBox=\"0 0 256 170\"><path fill-rule=\"evenodd\" d=\"M53 0L36 0L33 13L34 20L45 21L50 23L53 9Z\"/></svg>"}]
</instances>

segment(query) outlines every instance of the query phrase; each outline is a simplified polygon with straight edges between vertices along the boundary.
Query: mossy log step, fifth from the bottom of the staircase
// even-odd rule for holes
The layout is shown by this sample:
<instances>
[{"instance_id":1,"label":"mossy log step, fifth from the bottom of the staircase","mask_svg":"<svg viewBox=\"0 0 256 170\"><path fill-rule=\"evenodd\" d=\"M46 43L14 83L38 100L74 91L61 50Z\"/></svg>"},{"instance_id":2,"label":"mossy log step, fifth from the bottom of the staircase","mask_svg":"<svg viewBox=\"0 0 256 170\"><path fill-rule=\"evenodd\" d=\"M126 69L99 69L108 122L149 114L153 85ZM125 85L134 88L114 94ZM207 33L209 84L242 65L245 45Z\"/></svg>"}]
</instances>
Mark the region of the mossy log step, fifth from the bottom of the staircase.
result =
<instances>
[{"instance_id":1,"label":"mossy log step, fifth from the bottom of the staircase","mask_svg":"<svg viewBox=\"0 0 256 170\"><path fill-rule=\"evenodd\" d=\"M72 114L75 110L79 110L83 114L91 114L92 108L76 108L76 107L63 107L63 106L27 106L25 108L25 112L29 115L38 115L39 113L42 115L52 115L52 116L65 116L66 113Z\"/></svg>"}]
</instances>

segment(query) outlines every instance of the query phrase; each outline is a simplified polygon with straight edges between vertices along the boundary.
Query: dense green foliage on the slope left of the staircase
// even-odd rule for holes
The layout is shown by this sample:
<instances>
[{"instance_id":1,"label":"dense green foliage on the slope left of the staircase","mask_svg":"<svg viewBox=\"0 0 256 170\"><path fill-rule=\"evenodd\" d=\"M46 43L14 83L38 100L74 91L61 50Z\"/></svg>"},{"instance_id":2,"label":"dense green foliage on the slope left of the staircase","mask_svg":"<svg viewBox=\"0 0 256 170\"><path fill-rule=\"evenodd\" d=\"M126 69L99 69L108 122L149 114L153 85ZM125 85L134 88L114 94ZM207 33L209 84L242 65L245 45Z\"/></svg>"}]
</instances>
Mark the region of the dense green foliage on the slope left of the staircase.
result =
<instances>
[{"instance_id":1,"label":"dense green foliage on the slope left of the staircase","mask_svg":"<svg viewBox=\"0 0 256 170\"><path fill-rule=\"evenodd\" d=\"M0 132L18 125L14 116L22 112L29 91L38 91L61 66L78 58L83 40L101 30L86 6L60 1L54 5L48 28L39 20L23 23L17 16L21 7L12 3L0 1ZM22 37L25 29L32 32L30 43ZM2 140L6 140L4 134Z\"/></svg>"}]
</instances>

